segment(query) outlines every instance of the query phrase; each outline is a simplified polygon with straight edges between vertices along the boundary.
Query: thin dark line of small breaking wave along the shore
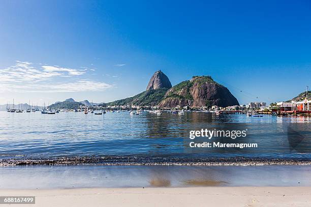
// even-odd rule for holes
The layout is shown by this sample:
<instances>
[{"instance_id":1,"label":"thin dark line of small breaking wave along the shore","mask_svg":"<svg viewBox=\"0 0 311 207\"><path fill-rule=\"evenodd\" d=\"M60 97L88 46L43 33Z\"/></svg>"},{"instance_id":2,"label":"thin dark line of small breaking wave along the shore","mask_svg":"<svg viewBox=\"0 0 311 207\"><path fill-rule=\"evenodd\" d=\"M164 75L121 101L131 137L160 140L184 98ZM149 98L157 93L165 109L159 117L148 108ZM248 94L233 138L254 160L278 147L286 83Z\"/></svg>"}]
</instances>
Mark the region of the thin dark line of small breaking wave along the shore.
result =
<instances>
[{"instance_id":1,"label":"thin dark line of small breaking wave along the shore","mask_svg":"<svg viewBox=\"0 0 311 207\"><path fill-rule=\"evenodd\" d=\"M15 165L310 165L310 159L277 158L149 158L141 157L72 157L55 159L0 159L0 166Z\"/></svg>"}]
</instances>

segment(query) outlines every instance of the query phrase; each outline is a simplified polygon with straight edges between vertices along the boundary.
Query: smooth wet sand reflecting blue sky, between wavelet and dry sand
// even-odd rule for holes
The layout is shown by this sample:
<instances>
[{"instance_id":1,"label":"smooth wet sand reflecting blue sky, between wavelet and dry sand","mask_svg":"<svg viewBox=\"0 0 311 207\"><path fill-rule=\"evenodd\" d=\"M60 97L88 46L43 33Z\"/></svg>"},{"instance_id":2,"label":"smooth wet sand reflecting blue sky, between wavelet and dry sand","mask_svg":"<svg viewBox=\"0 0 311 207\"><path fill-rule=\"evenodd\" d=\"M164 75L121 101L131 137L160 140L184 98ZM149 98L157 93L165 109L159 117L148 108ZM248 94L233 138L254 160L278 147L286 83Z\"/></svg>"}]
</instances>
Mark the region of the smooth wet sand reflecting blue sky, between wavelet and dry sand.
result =
<instances>
[{"instance_id":1,"label":"smooth wet sand reflecting blue sky, between wavelet and dry sand","mask_svg":"<svg viewBox=\"0 0 311 207\"><path fill-rule=\"evenodd\" d=\"M30 165L0 169L0 189L311 187L311 165Z\"/></svg>"}]
</instances>

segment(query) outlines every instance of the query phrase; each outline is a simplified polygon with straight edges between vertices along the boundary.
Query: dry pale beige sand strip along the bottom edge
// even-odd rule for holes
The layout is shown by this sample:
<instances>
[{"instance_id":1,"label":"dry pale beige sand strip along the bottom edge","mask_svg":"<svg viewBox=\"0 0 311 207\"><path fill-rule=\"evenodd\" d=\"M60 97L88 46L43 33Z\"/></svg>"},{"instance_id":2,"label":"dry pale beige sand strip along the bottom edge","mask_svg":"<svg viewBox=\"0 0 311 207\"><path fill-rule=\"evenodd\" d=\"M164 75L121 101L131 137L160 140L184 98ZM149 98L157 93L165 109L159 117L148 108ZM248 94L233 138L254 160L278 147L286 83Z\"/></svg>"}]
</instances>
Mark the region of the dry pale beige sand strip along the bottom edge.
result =
<instances>
[{"instance_id":1,"label":"dry pale beige sand strip along the bottom edge","mask_svg":"<svg viewBox=\"0 0 311 207\"><path fill-rule=\"evenodd\" d=\"M0 190L36 196L27 206L311 206L311 187L81 188ZM21 206L23 204L19 204ZM6 206L1 204L1 206ZM7 205L9 206L9 205ZM12 205L10 205L12 206Z\"/></svg>"}]
</instances>

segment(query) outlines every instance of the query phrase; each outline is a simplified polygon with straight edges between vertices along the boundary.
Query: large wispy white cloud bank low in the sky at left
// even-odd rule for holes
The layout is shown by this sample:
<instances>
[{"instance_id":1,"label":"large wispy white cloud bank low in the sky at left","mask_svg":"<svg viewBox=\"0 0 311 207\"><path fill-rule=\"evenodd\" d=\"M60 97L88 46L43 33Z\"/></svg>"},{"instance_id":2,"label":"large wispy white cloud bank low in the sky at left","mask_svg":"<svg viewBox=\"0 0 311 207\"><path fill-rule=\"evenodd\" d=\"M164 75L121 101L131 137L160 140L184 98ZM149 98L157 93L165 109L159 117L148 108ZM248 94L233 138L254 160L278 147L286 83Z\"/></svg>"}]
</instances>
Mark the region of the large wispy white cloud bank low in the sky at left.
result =
<instances>
[{"instance_id":1,"label":"large wispy white cloud bank low in the sky at left","mask_svg":"<svg viewBox=\"0 0 311 207\"><path fill-rule=\"evenodd\" d=\"M110 84L74 77L85 71L60 66L41 65L16 61L15 65L0 69L0 92L80 92L103 91L113 87Z\"/></svg>"}]
</instances>

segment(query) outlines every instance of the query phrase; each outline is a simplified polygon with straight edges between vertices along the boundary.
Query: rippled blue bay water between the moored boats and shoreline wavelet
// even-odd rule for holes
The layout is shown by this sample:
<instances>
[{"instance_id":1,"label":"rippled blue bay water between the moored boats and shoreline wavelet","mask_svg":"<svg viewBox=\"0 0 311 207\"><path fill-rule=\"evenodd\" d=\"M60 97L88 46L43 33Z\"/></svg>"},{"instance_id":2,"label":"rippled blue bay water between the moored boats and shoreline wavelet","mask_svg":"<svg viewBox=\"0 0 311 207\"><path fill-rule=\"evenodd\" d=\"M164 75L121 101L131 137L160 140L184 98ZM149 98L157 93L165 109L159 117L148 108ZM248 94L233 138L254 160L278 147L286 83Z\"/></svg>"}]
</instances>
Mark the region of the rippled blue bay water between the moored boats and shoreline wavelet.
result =
<instances>
[{"instance_id":1,"label":"rippled blue bay water between the moored boats and shoreline wavelet","mask_svg":"<svg viewBox=\"0 0 311 207\"><path fill-rule=\"evenodd\" d=\"M289 124L298 128L289 130ZM109 161L148 162L205 158L299 158L311 159L310 117L247 117L189 112L184 115L129 112L103 115L82 112L9 113L0 111L0 159L109 158ZM244 142L257 149L198 149L189 151L189 131L213 127L247 128ZM302 129L299 129L302 126ZM291 128L292 129L292 128ZM299 134L294 140L289 134ZM300 144L297 146L297 143Z\"/></svg>"}]
</instances>

